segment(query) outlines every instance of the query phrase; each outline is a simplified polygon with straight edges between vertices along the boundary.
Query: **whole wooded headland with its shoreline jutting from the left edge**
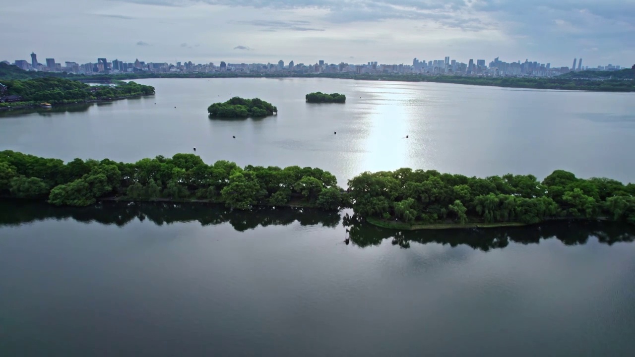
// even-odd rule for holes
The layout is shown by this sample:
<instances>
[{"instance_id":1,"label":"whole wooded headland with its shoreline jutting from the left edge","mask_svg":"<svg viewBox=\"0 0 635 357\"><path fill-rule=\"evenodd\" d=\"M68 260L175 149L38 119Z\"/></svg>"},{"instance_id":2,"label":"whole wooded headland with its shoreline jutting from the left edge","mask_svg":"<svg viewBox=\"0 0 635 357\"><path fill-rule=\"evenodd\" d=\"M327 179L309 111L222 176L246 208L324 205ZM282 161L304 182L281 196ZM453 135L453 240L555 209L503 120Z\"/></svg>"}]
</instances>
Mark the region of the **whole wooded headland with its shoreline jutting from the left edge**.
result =
<instances>
[{"instance_id":1,"label":"whole wooded headland with its shoreline jutting from the left edge","mask_svg":"<svg viewBox=\"0 0 635 357\"><path fill-rule=\"evenodd\" d=\"M153 86L118 81L116 86L90 86L58 77L4 81L0 88L0 109L48 107L115 100L154 94Z\"/></svg>"}]
</instances>

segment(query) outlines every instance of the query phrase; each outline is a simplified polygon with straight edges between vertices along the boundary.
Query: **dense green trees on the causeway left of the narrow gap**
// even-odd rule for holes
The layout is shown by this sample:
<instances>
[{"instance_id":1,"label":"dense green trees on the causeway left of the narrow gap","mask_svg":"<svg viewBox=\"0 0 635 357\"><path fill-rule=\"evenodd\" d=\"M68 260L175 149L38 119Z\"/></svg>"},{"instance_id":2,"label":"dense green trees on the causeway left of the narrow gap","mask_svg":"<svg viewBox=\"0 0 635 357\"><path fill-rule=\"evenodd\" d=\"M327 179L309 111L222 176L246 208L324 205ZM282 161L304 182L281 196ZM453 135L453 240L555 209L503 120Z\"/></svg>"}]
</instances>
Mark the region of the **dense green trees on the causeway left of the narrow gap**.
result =
<instances>
[{"instance_id":1,"label":"dense green trees on the causeway left of the narrow gap","mask_svg":"<svg viewBox=\"0 0 635 357\"><path fill-rule=\"evenodd\" d=\"M0 152L0 196L48 198L53 205L88 206L99 198L133 201L198 199L248 210L255 205L314 206L337 210L344 194L319 168L206 165L194 154L157 156L137 163L74 159L64 163Z\"/></svg>"}]
</instances>

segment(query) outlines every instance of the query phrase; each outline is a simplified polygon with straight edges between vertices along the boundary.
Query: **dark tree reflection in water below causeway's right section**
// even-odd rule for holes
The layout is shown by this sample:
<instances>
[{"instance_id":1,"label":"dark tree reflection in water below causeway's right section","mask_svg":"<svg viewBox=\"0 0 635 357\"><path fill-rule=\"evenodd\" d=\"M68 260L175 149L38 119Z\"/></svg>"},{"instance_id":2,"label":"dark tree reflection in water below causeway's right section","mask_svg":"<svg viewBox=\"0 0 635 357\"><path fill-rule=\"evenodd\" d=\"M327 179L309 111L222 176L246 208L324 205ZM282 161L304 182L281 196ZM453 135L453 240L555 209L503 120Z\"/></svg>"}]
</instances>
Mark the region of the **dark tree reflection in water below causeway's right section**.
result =
<instances>
[{"instance_id":1,"label":"dark tree reflection in water below causeway's right section","mask_svg":"<svg viewBox=\"0 0 635 357\"><path fill-rule=\"evenodd\" d=\"M509 242L524 245L540 243L540 239L559 239L565 245L583 245L590 236L598 237L601 243L612 245L616 242L635 240L635 227L617 222L547 222L526 227L503 227L488 229L441 229L421 231L393 231L368 224L356 215L342 219L349 229L354 245L366 247L379 245L384 239L392 239L393 245L408 248L411 241L426 244L467 245L487 252L505 248Z\"/></svg>"}]
</instances>

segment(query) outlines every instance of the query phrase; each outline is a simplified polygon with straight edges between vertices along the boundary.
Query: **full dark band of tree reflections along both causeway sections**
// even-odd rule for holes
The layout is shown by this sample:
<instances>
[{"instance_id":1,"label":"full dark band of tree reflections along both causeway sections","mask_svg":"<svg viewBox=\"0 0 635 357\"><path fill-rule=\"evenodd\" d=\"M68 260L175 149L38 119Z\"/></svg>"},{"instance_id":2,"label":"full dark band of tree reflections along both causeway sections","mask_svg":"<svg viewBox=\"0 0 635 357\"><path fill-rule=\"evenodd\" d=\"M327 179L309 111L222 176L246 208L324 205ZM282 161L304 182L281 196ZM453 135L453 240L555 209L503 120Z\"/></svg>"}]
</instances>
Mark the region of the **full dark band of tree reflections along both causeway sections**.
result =
<instances>
[{"instance_id":1,"label":"full dark band of tree reflections along both causeway sections","mask_svg":"<svg viewBox=\"0 0 635 357\"><path fill-rule=\"evenodd\" d=\"M57 207L46 203L0 201L0 227L19 226L37 220L74 219L78 222L97 222L125 226L131 221L149 220L158 226L175 222L199 222L203 226L229 223L236 231L244 232L258 226L286 226L299 222L302 226L335 228L344 226L344 242L365 248L384 241L401 248L410 243L438 243L467 245L487 252L505 248L510 242L524 245L538 244L541 239L556 238L565 245L584 245L595 236L600 243L612 245L635 240L635 227L613 222L550 222L528 227L500 229L449 229L423 231L394 231L373 226L349 213L324 212L300 208L259 208L250 212L231 211L220 205L199 203L116 203L102 202L85 208Z\"/></svg>"}]
</instances>

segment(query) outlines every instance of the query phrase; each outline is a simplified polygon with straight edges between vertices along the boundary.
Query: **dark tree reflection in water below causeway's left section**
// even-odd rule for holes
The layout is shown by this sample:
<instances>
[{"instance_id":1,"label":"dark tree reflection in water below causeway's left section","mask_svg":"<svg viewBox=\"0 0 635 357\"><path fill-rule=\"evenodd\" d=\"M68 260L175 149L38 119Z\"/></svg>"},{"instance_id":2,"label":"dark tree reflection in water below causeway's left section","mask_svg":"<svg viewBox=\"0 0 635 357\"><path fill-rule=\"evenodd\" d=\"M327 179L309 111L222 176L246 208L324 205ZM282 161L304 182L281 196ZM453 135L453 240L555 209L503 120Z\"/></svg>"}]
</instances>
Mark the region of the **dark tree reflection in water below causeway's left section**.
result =
<instances>
[{"instance_id":1,"label":"dark tree reflection in water below causeway's left section","mask_svg":"<svg viewBox=\"0 0 635 357\"><path fill-rule=\"evenodd\" d=\"M279 226L295 221L302 226L321 224L337 227L338 212L297 208L256 208L251 211L231 211L220 205L200 203L120 203L102 202L88 207L58 207L46 203L0 201L0 226L18 225L45 219L74 219L78 222L99 222L125 226L133 219L149 220L157 226L174 222L200 222L213 226L229 222L237 231L258 226Z\"/></svg>"}]
</instances>

